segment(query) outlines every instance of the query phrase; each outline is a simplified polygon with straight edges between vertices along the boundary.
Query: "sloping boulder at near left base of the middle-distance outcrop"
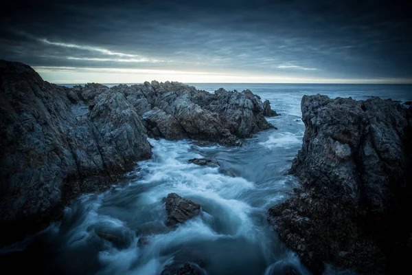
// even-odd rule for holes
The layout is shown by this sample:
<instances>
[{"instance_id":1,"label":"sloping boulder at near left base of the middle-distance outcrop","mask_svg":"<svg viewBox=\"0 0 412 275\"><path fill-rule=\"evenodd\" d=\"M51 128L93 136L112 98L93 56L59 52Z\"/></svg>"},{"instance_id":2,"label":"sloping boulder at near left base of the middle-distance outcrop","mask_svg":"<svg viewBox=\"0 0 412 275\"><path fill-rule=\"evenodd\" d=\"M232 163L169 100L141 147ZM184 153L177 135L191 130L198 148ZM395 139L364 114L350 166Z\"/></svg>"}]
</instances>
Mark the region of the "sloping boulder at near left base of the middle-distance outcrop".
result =
<instances>
[{"instance_id":1,"label":"sloping boulder at near left base of the middle-distance outcrop","mask_svg":"<svg viewBox=\"0 0 412 275\"><path fill-rule=\"evenodd\" d=\"M155 107L144 113L146 129L152 137L165 137L167 140L181 140L187 134L179 122L172 115Z\"/></svg>"}]
</instances>

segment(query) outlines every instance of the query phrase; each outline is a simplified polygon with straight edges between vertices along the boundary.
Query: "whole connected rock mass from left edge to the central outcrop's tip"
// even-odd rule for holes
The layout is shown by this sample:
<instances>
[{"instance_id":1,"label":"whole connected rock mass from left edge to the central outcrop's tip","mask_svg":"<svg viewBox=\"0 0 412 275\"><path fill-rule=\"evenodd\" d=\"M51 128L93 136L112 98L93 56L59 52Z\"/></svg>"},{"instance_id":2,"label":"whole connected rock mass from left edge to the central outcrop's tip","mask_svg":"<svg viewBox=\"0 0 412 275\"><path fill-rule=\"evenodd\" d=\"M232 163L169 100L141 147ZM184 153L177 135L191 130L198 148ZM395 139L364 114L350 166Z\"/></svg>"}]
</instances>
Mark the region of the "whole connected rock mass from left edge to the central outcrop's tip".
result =
<instances>
[{"instance_id":1,"label":"whole connected rock mass from left edge to the central outcrop's tip","mask_svg":"<svg viewBox=\"0 0 412 275\"><path fill-rule=\"evenodd\" d=\"M0 61L0 245L45 228L87 192L107 189L142 159L147 137L241 146L275 127L251 91L214 94L176 82L60 87Z\"/></svg>"}]
</instances>

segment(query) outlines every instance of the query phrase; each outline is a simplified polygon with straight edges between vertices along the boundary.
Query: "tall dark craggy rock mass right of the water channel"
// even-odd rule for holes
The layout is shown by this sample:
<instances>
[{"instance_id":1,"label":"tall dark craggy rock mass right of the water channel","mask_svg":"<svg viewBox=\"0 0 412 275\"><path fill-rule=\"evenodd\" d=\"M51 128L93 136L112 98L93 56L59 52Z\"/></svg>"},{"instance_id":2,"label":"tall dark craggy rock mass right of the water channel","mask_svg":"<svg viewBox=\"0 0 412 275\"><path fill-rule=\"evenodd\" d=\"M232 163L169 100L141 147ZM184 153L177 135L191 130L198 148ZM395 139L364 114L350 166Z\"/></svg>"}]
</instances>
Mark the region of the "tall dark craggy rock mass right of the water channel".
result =
<instances>
[{"instance_id":1,"label":"tall dark craggy rock mass right of the water channel","mask_svg":"<svg viewBox=\"0 0 412 275\"><path fill-rule=\"evenodd\" d=\"M301 111L304 142L290 170L301 188L268 220L314 274L323 263L402 273L412 260L411 108L317 95Z\"/></svg>"}]
</instances>

